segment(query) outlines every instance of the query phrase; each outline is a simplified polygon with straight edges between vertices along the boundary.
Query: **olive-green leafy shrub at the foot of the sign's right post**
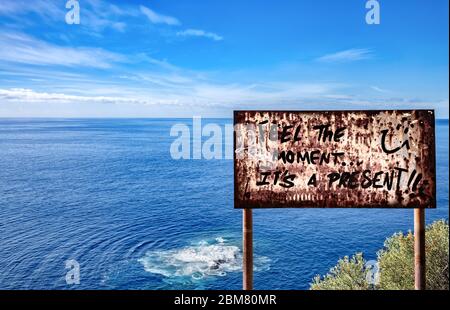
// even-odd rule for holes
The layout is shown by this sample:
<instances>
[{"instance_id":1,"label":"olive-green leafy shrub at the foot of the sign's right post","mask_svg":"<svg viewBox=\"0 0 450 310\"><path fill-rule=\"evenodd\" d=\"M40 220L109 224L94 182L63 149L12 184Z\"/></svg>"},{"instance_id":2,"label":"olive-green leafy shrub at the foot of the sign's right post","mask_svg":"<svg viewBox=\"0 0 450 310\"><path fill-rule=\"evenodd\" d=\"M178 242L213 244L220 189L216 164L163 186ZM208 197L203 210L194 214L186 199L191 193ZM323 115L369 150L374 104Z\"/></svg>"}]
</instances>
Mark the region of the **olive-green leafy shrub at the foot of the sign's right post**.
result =
<instances>
[{"instance_id":1,"label":"olive-green leafy shrub at the foot of the sign's right post","mask_svg":"<svg viewBox=\"0 0 450 310\"><path fill-rule=\"evenodd\" d=\"M439 220L427 226L425 237L427 289L449 289L449 228L448 222ZM311 283L313 290L354 289L414 289L414 235L396 233L386 239L378 253L379 284L371 286L366 280L367 270L362 253L351 259L338 261L324 277L316 276Z\"/></svg>"}]
</instances>

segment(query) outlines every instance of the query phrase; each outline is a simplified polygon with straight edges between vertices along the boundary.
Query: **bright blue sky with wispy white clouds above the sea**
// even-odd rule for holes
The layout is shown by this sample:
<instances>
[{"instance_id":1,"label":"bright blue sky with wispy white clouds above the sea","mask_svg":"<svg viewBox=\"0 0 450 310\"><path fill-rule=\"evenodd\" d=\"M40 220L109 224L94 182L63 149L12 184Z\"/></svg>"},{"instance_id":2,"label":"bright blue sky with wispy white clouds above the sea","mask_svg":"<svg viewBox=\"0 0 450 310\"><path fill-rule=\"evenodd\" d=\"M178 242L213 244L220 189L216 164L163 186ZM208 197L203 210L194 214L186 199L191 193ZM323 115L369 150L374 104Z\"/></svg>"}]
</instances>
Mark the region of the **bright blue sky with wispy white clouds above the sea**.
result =
<instances>
[{"instance_id":1,"label":"bright blue sky with wispy white clouds above the sea","mask_svg":"<svg viewBox=\"0 0 450 310\"><path fill-rule=\"evenodd\" d=\"M448 1L0 2L0 117L230 117L434 108L448 118Z\"/></svg>"}]
</instances>

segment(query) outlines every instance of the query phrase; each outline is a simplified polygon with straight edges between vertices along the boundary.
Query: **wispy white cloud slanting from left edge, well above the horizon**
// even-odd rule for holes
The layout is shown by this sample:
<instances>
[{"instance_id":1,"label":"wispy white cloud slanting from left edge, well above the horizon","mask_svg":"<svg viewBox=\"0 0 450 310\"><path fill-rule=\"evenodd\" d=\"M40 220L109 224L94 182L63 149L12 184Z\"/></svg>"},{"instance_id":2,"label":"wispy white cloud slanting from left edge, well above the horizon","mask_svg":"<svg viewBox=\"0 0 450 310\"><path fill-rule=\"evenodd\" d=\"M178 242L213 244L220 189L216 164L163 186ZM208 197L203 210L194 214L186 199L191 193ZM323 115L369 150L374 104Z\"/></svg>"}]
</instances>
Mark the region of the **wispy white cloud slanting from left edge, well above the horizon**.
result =
<instances>
[{"instance_id":1,"label":"wispy white cloud slanting from left edge, well above the horizon","mask_svg":"<svg viewBox=\"0 0 450 310\"><path fill-rule=\"evenodd\" d=\"M0 61L32 65L108 68L125 57L101 48L58 46L23 33L0 32Z\"/></svg>"}]
</instances>

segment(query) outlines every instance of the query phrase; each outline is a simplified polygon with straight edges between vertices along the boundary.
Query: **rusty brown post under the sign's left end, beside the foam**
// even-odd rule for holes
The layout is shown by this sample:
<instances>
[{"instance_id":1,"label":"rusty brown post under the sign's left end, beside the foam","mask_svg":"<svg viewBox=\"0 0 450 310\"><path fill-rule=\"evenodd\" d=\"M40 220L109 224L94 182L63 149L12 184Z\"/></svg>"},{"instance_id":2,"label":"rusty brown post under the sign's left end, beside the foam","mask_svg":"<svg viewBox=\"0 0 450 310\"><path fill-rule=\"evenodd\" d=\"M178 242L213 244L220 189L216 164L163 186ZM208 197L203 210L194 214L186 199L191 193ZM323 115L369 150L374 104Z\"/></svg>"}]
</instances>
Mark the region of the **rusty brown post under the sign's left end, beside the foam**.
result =
<instances>
[{"instance_id":1,"label":"rusty brown post under the sign's left end, beside the foam","mask_svg":"<svg viewBox=\"0 0 450 310\"><path fill-rule=\"evenodd\" d=\"M243 257L242 282L244 290L253 289L253 218L252 209L244 209L242 214Z\"/></svg>"}]
</instances>

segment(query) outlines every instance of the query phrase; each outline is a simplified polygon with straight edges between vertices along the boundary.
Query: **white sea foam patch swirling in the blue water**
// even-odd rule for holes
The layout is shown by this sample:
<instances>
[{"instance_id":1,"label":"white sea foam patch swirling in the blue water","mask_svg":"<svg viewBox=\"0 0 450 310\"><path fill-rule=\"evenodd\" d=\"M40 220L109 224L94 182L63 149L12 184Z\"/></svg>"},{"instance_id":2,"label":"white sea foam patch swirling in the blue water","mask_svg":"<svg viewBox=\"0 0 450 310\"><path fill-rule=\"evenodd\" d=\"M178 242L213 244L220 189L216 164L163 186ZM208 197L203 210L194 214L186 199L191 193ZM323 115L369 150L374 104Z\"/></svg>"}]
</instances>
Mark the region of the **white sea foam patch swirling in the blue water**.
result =
<instances>
[{"instance_id":1,"label":"white sea foam patch swirling in the blue water","mask_svg":"<svg viewBox=\"0 0 450 310\"><path fill-rule=\"evenodd\" d=\"M223 277L229 272L242 270L242 253L239 247L227 244L218 237L212 242L200 241L180 249L148 251L138 260L145 271L164 277ZM270 260L255 256L255 270L267 270Z\"/></svg>"}]
</instances>

